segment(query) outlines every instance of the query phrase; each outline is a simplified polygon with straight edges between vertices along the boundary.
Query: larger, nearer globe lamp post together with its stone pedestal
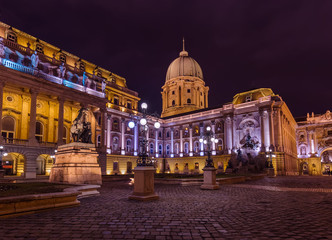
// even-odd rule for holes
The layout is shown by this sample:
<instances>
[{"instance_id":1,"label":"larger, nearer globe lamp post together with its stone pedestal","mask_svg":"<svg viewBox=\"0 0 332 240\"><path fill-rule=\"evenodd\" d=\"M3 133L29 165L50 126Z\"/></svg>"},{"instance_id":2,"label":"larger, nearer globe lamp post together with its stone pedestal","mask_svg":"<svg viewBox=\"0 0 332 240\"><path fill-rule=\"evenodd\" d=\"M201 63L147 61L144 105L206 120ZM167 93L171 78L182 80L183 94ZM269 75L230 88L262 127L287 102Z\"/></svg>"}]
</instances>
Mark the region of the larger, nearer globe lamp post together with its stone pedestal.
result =
<instances>
[{"instance_id":1,"label":"larger, nearer globe lamp post together with its stone pedestal","mask_svg":"<svg viewBox=\"0 0 332 240\"><path fill-rule=\"evenodd\" d=\"M128 123L129 128L134 128L139 124L138 128L142 139L139 141L139 154L137 159L137 167L134 168L134 192L129 196L129 199L139 201L157 200L159 196L154 192L154 173L156 169L153 166L153 161L147 154L147 139L146 132L148 130L148 118L146 110L148 105L141 104L142 116L132 119ZM160 128L160 123L155 122L154 127Z\"/></svg>"}]
</instances>

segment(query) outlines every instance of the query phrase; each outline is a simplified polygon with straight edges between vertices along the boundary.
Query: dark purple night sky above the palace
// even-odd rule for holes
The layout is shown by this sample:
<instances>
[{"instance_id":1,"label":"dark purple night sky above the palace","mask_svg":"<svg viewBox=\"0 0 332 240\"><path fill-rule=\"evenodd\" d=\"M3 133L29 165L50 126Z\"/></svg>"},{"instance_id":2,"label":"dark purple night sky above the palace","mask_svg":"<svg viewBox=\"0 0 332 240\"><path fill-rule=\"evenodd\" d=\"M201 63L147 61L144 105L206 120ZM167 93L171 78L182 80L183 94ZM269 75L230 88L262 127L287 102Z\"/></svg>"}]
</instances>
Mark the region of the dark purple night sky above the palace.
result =
<instances>
[{"instance_id":1,"label":"dark purple night sky above the palace","mask_svg":"<svg viewBox=\"0 0 332 240\"><path fill-rule=\"evenodd\" d=\"M294 117L332 110L332 1L5 1L0 20L127 79L161 112L182 49L202 67L209 106L269 87Z\"/></svg>"}]
</instances>

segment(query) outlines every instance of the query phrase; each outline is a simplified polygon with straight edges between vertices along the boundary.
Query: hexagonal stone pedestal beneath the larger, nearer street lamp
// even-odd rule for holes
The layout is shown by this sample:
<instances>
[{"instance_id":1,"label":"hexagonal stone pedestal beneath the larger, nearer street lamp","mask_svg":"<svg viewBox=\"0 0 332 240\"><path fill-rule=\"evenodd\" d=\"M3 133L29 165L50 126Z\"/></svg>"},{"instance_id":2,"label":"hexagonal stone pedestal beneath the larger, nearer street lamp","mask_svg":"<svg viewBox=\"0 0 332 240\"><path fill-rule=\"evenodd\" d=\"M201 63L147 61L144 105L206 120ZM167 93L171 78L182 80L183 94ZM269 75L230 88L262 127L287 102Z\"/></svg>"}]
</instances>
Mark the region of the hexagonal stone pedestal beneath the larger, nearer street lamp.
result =
<instances>
[{"instance_id":1,"label":"hexagonal stone pedestal beneath the larger, nearer street lamp","mask_svg":"<svg viewBox=\"0 0 332 240\"><path fill-rule=\"evenodd\" d=\"M154 192L154 167L134 168L134 192L128 197L132 200L151 201L158 200L159 196Z\"/></svg>"}]
</instances>

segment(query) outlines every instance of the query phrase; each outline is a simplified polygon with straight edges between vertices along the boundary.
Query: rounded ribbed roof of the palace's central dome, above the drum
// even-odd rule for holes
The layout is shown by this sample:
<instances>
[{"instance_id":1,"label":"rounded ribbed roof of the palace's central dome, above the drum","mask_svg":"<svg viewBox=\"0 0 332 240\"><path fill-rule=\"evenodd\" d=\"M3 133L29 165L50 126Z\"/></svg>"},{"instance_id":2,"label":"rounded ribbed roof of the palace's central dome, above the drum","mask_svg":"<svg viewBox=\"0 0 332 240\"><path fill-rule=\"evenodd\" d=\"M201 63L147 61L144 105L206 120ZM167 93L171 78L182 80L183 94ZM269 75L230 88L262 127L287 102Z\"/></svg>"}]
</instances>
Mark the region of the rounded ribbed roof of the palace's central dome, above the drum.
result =
<instances>
[{"instance_id":1,"label":"rounded ribbed roof of the palace's central dome, above the drum","mask_svg":"<svg viewBox=\"0 0 332 240\"><path fill-rule=\"evenodd\" d=\"M166 81L182 76L197 77L203 80L201 67L195 59L188 56L188 52L184 48L180 52L180 56L169 65L166 73Z\"/></svg>"}]
</instances>

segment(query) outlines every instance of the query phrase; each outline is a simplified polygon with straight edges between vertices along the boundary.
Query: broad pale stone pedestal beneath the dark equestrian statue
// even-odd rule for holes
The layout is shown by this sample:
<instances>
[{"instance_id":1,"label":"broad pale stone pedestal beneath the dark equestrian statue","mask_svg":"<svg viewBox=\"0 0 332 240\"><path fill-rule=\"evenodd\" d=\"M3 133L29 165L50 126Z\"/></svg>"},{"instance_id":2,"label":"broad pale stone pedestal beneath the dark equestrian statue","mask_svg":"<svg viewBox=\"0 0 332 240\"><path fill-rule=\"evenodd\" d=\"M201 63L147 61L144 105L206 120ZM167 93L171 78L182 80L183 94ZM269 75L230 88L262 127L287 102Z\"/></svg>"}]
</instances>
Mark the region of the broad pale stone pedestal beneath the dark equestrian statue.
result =
<instances>
[{"instance_id":1,"label":"broad pale stone pedestal beneath the dark equestrian statue","mask_svg":"<svg viewBox=\"0 0 332 240\"><path fill-rule=\"evenodd\" d=\"M50 182L71 184L102 184L98 153L94 144L61 145L50 173Z\"/></svg>"}]
</instances>

